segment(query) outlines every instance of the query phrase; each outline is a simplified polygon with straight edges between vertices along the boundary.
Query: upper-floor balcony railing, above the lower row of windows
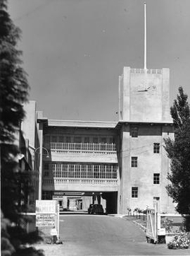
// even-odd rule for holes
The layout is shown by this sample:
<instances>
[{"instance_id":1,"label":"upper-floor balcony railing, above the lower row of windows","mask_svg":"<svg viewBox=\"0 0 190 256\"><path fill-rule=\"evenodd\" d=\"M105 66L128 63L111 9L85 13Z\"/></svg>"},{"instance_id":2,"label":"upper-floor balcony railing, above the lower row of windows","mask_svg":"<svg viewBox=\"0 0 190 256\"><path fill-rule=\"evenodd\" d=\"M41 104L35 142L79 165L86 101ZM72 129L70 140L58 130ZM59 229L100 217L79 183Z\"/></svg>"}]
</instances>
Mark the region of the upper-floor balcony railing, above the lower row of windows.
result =
<instances>
[{"instance_id":1,"label":"upper-floor balcony railing, above the lower row of windows","mask_svg":"<svg viewBox=\"0 0 190 256\"><path fill-rule=\"evenodd\" d=\"M51 151L78 151L78 152L101 152L101 153L116 153L115 144L102 143L61 143L51 142Z\"/></svg>"}]
</instances>

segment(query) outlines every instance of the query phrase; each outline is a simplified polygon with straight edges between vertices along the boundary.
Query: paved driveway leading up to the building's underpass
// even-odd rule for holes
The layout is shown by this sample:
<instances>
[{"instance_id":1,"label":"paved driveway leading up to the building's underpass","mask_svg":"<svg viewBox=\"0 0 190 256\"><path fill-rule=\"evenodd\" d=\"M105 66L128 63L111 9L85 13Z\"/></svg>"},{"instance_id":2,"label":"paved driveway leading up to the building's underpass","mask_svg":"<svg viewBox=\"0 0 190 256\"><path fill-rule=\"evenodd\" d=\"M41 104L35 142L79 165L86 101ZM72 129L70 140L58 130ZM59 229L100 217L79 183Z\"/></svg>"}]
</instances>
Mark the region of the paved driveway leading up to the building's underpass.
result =
<instances>
[{"instance_id":1,"label":"paved driveway leading up to the building's underpass","mask_svg":"<svg viewBox=\"0 0 190 256\"><path fill-rule=\"evenodd\" d=\"M190 255L190 250L168 250L146 243L144 231L131 221L114 216L63 215L63 245L44 245L50 255ZM39 248L39 246L38 246Z\"/></svg>"}]
</instances>

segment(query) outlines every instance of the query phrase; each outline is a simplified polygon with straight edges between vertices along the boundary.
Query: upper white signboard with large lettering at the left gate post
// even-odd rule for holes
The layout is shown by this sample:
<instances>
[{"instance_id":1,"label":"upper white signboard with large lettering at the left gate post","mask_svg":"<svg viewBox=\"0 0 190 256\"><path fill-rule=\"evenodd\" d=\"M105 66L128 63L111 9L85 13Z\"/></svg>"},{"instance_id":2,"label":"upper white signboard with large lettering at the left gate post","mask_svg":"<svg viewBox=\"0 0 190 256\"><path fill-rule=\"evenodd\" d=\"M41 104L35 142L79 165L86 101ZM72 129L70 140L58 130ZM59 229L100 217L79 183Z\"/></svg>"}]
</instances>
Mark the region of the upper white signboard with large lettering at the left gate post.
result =
<instances>
[{"instance_id":1,"label":"upper white signboard with large lettering at the left gate post","mask_svg":"<svg viewBox=\"0 0 190 256\"><path fill-rule=\"evenodd\" d=\"M56 200L36 200L36 214L56 214Z\"/></svg>"}]
</instances>

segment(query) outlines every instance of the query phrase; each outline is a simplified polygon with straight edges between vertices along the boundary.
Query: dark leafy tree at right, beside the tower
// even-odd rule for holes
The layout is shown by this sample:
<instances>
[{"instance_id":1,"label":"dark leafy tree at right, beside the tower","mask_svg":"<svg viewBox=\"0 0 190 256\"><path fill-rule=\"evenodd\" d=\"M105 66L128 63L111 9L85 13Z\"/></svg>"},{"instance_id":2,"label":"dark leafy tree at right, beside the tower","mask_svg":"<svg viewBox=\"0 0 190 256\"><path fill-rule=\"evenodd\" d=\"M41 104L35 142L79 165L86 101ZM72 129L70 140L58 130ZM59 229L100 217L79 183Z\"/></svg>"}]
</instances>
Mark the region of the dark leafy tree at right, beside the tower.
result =
<instances>
[{"instance_id":1,"label":"dark leafy tree at right, beside the tower","mask_svg":"<svg viewBox=\"0 0 190 256\"><path fill-rule=\"evenodd\" d=\"M190 109L188 96L179 87L179 95L170 112L175 127L175 139L165 139L165 150L170 158L171 173L167 178L167 192L177 203L179 214L190 214Z\"/></svg>"}]
</instances>

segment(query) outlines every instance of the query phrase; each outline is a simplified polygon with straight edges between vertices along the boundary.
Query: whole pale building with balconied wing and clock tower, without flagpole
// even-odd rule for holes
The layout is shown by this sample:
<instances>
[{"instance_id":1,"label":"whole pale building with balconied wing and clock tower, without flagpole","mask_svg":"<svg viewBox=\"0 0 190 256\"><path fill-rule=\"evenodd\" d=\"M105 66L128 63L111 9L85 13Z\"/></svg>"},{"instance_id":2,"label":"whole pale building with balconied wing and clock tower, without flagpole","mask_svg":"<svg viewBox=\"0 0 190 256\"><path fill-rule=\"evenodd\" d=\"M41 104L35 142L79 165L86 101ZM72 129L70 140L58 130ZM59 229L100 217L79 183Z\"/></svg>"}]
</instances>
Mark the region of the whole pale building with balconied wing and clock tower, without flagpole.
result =
<instances>
[{"instance_id":1,"label":"whole pale building with balconied wing and clock tower, without flagpole","mask_svg":"<svg viewBox=\"0 0 190 256\"><path fill-rule=\"evenodd\" d=\"M174 211L163 147L174 136L169 89L169 69L124 67L118 122L49 120L38 112L39 199L56 199L70 210L96 202L115 214L157 200L160 212Z\"/></svg>"}]
</instances>

